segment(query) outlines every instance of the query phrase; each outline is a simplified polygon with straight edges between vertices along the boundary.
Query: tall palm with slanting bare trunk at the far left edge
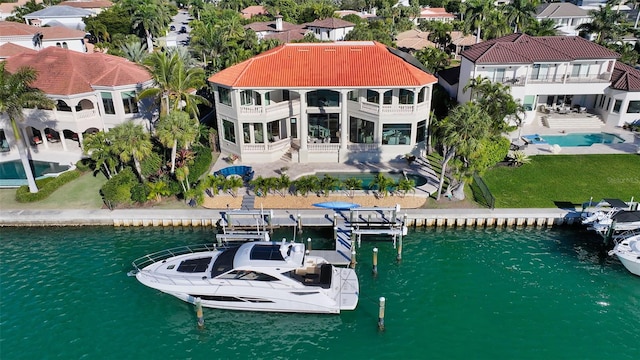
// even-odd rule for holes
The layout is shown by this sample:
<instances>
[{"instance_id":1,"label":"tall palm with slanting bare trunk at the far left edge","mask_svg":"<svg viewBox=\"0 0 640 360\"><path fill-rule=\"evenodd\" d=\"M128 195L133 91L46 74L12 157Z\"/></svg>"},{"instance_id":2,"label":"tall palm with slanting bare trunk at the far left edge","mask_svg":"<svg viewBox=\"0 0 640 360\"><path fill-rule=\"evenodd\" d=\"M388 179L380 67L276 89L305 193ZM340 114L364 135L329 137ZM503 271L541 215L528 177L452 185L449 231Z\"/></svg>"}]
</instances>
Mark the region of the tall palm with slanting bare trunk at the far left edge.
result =
<instances>
[{"instance_id":1,"label":"tall palm with slanting bare trunk at the far left edge","mask_svg":"<svg viewBox=\"0 0 640 360\"><path fill-rule=\"evenodd\" d=\"M37 78L38 74L33 68L22 67L10 74L5 70L5 63L0 62L0 114L7 114L9 117L22 167L27 175L29 191L32 193L38 192L38 186L31 170L27 146L22 141L18 122L24 121L26 107L53 108L55 105L42 91L31 87Z\"/></svg>"}]
</instances>

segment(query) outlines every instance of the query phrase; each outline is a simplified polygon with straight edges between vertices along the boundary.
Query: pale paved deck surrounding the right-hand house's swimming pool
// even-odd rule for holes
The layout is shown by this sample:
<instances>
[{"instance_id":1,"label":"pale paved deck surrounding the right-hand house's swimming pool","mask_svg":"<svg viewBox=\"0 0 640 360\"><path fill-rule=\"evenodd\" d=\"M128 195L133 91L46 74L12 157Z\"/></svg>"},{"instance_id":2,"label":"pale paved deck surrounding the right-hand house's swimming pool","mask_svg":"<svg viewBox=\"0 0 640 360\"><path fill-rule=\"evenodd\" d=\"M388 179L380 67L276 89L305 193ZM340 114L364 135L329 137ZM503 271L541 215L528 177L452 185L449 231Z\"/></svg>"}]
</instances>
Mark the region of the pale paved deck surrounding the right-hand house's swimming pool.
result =
<instances>
[{"instance_id":1,"label":"pale paved deck surrounding the right-hand house's swimming pool","mask_svg":"<svg viewBox=\"0 0 640 360\"><path fill-rule=\"evenodd\" d=\"M575 128L567 129L550 129L546 126L534 121L533 124L525 125L520 130L516 130L509 134L509 138L513 143L522 144L521 136L538 134L542 138L545 135L563 135L571 133L595 133L603 132L615 134L624 139L621 144L593 144L591 146L571 146L561 147L560 155L592 155L592 154L637 154L640 153L640 137L632 132L619 128L617 126L603 125L598 130L586 129L580 130ZM529 144L524 150L527 155L554 155L551 145L549 144Z\"/></svg>"}]
</instances>

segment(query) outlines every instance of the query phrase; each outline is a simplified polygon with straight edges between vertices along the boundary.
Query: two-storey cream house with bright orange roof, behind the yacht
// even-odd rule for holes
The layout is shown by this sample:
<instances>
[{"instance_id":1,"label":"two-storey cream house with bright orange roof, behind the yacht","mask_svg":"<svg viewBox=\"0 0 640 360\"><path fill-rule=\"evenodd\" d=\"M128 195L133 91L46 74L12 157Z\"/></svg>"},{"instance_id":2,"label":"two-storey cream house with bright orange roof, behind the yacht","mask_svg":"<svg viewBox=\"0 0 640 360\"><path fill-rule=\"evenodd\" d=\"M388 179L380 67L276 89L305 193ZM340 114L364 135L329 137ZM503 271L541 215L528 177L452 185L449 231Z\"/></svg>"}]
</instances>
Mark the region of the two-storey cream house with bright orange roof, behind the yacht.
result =
<instances>
[{"instance_id":1,"label":"two-storey cream house with bright orange roof, behind the yacht","mask_svg":"<svg viewBox=\"0 0 640 360\"><path fill-rule=\"evenodd\" d=\"M424 149L436 78L372 41L285 44L214 86L222 152L247 162L380 162Z\"/></svg>"}]
</instances>

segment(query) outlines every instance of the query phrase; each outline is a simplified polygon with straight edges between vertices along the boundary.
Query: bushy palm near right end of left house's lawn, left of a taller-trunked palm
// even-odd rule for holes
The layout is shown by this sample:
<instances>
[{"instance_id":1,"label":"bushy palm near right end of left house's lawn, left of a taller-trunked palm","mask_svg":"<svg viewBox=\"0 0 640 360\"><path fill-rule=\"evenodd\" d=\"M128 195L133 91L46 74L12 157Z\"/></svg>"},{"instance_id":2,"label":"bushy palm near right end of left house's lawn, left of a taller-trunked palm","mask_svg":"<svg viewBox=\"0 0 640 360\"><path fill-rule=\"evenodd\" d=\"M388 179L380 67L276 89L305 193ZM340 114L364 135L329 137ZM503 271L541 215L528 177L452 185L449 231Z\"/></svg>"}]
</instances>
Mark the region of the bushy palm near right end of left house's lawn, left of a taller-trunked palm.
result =
<instances>
[{"instance_id":1,"label":"bushy palm near right end of left house's lawn, left of a taller-trunked palm","mask_svg":"<svg viewBox=\"0 0 640 360\"><path fill-rule=\"evenodd\" d=\"M153 151L149 133L142 125L130 120L109 130L109 138L112 139L114 151L120 154L120 160L125 163L133 161L140 181L145 182L140 161Z\"/></svg>"}]
</instances>

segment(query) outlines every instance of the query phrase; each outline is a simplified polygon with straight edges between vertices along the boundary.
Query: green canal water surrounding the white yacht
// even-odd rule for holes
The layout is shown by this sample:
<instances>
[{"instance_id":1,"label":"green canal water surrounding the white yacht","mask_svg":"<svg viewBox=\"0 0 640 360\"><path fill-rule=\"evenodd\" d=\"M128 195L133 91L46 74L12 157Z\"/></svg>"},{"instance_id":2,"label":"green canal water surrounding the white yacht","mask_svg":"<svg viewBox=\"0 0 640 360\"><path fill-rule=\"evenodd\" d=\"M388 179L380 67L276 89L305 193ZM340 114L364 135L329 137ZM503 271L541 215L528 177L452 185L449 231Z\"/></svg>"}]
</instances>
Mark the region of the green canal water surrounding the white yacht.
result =
<instances>
[{"instance_id":1,"label":"green canal water surrounding the white yacht","mask_svg":"<svg viewBox=\"0 0 640 360\"><path fill-rule=\"evenodd\" d=\"M638 357L640 278L578 229L411 231L401 263L391 243L363 242L360 303L339 316L204 309L198 330L193 306L126 276L141 255L212 239L202 229L0 228L0 358Z\"/></svg>"}]
</instances>

